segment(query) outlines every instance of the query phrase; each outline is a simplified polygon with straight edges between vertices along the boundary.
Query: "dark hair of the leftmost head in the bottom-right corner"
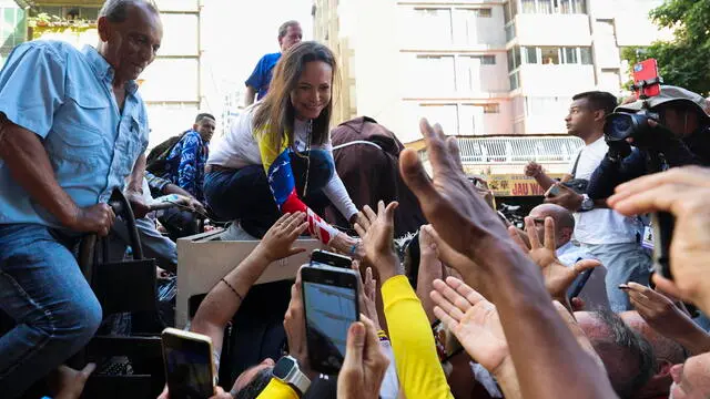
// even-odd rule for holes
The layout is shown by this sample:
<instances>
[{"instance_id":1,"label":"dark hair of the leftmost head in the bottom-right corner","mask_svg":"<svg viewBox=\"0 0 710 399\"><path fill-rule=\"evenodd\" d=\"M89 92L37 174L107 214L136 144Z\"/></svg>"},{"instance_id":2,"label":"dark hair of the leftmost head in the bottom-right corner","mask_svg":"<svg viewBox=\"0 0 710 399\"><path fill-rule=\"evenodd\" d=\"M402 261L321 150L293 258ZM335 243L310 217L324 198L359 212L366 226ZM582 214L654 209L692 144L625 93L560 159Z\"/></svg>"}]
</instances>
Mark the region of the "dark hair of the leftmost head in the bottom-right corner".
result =
<instances>
[{"instance_id":1,"label":"dark hair of the leftmost head in the bottom-right corner","mask_svg":"<svg viewBox=\"0 0 710 399\"><path fill-rule=\"evenodd\" d=\"M596 310L595 317L605 324L609 340L592 342L604 361L611 387L621 398L630 398L656 371L656 354L649 341L632 330L609 310Z\"/></svg>"}]
</instances>

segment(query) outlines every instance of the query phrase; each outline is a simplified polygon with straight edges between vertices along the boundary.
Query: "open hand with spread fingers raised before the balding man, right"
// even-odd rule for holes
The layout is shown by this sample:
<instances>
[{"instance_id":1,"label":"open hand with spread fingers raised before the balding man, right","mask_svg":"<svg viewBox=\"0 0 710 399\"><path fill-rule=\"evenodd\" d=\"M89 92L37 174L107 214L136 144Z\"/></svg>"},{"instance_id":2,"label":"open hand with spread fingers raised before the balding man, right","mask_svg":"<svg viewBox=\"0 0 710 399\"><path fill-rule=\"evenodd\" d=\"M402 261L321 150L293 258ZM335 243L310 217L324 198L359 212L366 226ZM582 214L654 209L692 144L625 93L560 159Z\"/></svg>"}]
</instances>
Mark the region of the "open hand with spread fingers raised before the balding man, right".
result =
<instances>
[{"instance_id":1,"label":"open hand with spread fingers raised before the balding man, right","mask_svg":"<svg viewBox=\"0 0 710 399\"><path fill-rule=\"evenodd\" d=\"M575 278L582 272L601 264L598 260L584 259L571 267L562 265L556 254L555 221L551 217L545 218L545 243L540 243L535 222L530 216L525 218L525 232L530 242L530 249L523 242L515 227L508 227L510 238L518 243L520 249L527 252L532 262L540 267L545 279L545 288L547 288L550 296L567 305L567 289L575 282Z\"/></svg>"}]
</instances>

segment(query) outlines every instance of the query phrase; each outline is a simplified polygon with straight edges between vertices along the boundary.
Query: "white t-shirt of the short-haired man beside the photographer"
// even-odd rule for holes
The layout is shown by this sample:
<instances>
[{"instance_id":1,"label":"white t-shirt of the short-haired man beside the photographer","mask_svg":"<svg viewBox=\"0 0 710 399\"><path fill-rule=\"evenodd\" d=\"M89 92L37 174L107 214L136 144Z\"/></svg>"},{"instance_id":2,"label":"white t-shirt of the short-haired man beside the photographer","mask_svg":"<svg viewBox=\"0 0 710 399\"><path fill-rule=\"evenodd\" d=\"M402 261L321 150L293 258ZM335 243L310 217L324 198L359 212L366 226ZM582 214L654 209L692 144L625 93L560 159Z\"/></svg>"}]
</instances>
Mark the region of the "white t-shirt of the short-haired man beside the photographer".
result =
<instances>
[{"instance_id":1,"label":"white t-shirt of the short-haired man beside the photographer","mask_svg":"<svg viewBox=\"0 0 710 399\"><path fill-rule=\"evenodd\" d=\"M589 180L608 150L604 136L585 145L580 150L575 178ZM575 161L569 165L569 174L572 174L574 167ZM633 243L640 229L641 224L636 218L626 217L612 209L595 208L575 213L575 239L582 244Z\"/></svg>"}]
</instances>

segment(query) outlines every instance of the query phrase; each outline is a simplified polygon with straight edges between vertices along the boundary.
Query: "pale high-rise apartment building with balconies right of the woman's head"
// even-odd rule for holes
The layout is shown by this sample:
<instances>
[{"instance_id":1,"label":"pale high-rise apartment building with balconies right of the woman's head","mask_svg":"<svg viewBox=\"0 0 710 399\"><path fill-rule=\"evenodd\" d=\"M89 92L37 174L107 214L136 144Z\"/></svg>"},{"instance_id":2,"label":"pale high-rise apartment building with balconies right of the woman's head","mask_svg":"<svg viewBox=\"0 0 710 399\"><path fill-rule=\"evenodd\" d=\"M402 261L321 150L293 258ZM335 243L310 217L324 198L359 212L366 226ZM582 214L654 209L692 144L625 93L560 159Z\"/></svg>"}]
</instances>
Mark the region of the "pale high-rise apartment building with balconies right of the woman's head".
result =
<instances>
[{"instance_id":1,"label":"pale high-rise apartment building with balconies right of the woman's head","mask_svg":"<svg viewBox=\"0 0 710 399\"><path fill-rule=\"evenodd\" d=\"M314 0L312 14L341 64L337 121L369 115L418 147L425 116L462 137L469 172L513 187L528 160L566 172L581 141L540 135L566 133L575 93L621 94L620 49L662 37L646 17L661 2Z\"/></svg>"}]
</instances>

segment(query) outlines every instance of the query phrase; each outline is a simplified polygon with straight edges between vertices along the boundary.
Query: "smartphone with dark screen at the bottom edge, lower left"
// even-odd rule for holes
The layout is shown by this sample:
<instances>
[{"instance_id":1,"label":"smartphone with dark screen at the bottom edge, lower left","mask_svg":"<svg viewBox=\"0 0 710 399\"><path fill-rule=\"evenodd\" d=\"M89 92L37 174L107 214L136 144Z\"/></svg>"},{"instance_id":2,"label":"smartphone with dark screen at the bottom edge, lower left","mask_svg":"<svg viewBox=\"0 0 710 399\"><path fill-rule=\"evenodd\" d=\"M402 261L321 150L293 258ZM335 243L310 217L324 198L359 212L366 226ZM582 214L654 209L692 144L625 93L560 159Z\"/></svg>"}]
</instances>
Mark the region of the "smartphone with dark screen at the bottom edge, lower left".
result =
<instances>
[{"instance_id":1,"label":"smartphone with dark screen at the bottom edge, lower left","mask_svg":"<svg viewBox=\"0 0 710 399\"><path fill-rule=\"evenodd\" d=\"M161 338L170 398L205 399L214 396L216 372L212 339L176 328L165 328Z\"/></svg>"}]
</instances>

